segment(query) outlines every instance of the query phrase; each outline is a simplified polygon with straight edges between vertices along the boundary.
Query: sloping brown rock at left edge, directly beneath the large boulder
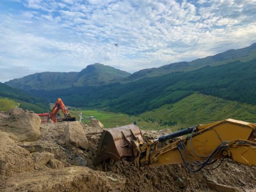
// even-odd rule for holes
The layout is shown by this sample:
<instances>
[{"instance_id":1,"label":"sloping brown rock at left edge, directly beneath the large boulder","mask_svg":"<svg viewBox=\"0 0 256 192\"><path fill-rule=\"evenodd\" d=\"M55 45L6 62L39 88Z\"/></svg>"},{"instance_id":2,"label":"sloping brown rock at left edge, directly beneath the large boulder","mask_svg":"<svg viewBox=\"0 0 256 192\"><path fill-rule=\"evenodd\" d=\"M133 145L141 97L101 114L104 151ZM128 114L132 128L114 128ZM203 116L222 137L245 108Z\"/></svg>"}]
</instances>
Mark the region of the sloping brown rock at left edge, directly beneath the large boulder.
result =
<instances>
[{"instance_id":1,"label":"sloping brown rock at left edge, directly beneath the large boulder","mask_svg":"<svg viewBox=\"0 0 256 192\"><path fill-rule=\"evenodd\" d=\"M0 178L32 170L34 163L30 153L16 145L7 133L0 131Z\"/></svg>"}]
</instances>

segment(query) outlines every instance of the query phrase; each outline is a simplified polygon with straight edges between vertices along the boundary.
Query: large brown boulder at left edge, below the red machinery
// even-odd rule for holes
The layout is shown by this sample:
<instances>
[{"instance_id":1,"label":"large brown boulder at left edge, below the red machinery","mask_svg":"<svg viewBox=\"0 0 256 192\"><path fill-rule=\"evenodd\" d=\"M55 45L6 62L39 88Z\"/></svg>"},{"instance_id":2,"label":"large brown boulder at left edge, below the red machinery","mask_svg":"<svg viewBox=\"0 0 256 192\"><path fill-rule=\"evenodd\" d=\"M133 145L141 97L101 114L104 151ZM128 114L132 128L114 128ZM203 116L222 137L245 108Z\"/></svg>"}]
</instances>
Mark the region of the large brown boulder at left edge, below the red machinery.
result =
<instances>
[{"instance_id":1,"label":"large brown boulder at left edge, below the red machinery","mask_svg":"<svg viewBox=\"0 0 256 192\"><path fill-rule=\"evenodd\" d=\"M36 141L41 136L41 119L37 114L13 108L0 114L0 131L17 141Z\"/></svg>"}]
</instances>

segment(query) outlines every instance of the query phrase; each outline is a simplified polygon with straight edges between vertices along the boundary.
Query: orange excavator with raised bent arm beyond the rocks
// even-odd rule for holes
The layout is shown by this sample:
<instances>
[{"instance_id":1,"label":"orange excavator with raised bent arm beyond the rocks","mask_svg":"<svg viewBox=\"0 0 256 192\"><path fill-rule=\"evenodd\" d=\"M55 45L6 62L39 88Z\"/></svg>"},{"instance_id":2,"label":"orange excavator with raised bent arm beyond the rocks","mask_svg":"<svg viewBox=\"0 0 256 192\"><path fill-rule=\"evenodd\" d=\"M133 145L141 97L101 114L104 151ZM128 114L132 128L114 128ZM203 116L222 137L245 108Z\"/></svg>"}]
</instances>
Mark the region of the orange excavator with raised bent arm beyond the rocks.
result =
<instances>
[{"instance_id":1,"label":"orange excavator with raised bent arm beyond the rocks","mask_svg":"<svg viewBox=\"0 0 256 192\"><path fill-rule=\"evenodd\" d=\"M57 119L57 114L59 109L64 114L64 118ZM75 121L75 117L71 117L68 109L66 108L65 104L62 102L61 99L57 99L55 102L55 105L51 111L51 114L49 116L49 119L52 119L54 123L57 123L57 121Z\"/></svg>"}]
</instances>

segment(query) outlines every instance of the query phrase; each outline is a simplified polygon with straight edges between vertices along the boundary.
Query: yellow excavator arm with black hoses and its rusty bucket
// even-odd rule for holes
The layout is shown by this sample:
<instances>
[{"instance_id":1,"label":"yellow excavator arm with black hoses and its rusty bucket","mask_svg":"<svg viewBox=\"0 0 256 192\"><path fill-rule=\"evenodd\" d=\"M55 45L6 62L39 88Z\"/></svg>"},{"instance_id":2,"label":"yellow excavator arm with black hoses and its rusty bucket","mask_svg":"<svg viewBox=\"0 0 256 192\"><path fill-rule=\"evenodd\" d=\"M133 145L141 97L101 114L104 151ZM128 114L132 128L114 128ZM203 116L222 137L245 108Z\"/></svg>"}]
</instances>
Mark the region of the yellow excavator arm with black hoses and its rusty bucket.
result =
<instances>
[{"instance_id":1,"label":"yellow excavator arm with black hoses and its rusty bucket","mask_svg":"<svg viewBox=\"0 0 256 192\"><path fill-rule=\"evenodd\" d=\"M161 143L164 147L159 147ZM124 157L133 159L136 167L184 163L192 172L217 161L218 167L225 158L255 166L256 123L227 119L188 127L147 142L135 124L104 130L95 164Z\"/></svg>"}]
</instances>

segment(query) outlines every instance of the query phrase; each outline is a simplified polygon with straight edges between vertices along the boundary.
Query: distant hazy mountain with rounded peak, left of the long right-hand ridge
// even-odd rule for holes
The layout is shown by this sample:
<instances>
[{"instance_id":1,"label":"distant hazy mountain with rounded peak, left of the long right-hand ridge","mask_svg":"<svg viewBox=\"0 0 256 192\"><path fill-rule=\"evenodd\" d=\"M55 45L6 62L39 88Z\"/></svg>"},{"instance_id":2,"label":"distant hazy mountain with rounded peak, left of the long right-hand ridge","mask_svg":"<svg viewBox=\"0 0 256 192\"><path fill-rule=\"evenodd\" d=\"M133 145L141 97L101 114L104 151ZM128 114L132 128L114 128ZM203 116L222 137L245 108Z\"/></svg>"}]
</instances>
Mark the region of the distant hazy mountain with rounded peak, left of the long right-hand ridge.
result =
<instances>
[{"instance_id":1,"label":"distant hazy mountain with rounded peak, left of the long right-hand ridge","mask_svg":"<svg viewBox=\"0 0 256 192\"><path fill-rule=\"evenodd\" d=\"M5 84L23 90L54 90L76 86L100 86L119 81L130 73L100 63L87 66L81 72L42 72L16 78Z\"/></svg>"}]
</instances>

